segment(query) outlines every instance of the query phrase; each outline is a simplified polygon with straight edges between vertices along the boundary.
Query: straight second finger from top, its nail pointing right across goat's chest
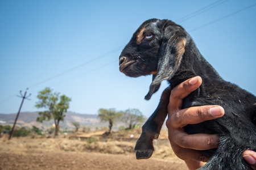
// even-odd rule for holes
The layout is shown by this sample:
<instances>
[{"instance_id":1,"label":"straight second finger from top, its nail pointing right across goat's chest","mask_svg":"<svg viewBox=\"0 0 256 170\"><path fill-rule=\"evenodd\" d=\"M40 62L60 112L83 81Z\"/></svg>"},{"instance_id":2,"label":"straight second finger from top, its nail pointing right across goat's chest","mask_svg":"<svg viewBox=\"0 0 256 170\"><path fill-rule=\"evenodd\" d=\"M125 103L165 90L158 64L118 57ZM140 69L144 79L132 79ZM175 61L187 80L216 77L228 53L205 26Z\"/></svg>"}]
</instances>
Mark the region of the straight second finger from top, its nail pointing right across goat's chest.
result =
<instances>
[{"instance_id":1,"label":"straight second finger from top, its nail pointing right across goat's chest","mask_svg":"<svg viewBox=\"0 0 256 170\"><path fill-rule=\"evenodd\" d=\"M222 117L225 111L224 108L218 105L204 105L201 107L191 107L182 109L168 118L167 127L183 128L188 124L199 124L207 120Z\"/></svg>"}]
</instances>

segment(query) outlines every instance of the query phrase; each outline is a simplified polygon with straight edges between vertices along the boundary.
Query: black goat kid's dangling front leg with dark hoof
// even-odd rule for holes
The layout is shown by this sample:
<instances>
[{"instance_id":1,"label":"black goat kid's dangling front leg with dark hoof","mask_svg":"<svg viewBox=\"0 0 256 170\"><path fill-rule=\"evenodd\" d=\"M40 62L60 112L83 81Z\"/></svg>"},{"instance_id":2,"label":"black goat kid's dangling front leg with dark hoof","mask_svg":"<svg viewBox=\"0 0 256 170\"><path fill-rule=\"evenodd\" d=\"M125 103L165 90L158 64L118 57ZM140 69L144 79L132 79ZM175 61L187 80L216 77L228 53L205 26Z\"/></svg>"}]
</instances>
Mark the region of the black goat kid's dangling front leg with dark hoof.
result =
<instances>
[{"instance_id":1,"label":"black goat kid's dangling front leg with dark hoof","mask_svg":"<svg viewBox=\"0 0 256 170\"><path fill-rule=\"evenodd\" d=\"M137 159L148 159L153 154L153 140L158 139L160 130L166 119L170 94L171 88L167 87L166 90L163 91L158 107L142 126L141 137L139 137L135 146Z\"/></svg>"}]
</instances>

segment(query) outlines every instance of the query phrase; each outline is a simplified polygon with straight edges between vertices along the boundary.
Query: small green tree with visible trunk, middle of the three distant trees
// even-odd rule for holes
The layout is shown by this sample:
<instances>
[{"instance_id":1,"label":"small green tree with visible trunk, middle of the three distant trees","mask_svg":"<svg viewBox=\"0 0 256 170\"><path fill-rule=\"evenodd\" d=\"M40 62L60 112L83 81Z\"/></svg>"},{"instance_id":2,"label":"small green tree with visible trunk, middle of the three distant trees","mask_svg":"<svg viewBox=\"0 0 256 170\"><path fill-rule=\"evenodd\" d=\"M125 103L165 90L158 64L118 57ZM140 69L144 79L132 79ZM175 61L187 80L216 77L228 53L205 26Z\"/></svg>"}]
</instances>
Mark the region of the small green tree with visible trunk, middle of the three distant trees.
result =
<instances>
[{"instance_id":1,"label":"small green tree with visible trunk, middle of the three distant trees","mask_svg":"<svg viewBox=\"0 0 256 170\"><path fill-rule=\"evenodd\" d=\"M109 122L109 132L111 133L113 124L120 116L120 112L116 112L114 108L112 109L99 109L98 117L100 117L100 121L108 121Z\"/></svg>"}]
</instances>

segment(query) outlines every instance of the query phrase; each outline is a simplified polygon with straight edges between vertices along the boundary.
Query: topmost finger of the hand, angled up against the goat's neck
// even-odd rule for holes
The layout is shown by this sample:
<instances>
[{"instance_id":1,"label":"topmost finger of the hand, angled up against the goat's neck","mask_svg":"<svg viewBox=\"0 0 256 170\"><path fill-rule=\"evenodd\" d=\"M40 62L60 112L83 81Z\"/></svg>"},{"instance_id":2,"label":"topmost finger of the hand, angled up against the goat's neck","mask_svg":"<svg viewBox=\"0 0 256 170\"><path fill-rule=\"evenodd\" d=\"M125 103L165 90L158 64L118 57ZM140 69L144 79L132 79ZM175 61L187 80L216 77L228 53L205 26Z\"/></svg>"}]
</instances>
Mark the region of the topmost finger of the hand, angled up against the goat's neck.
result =
<instances>
[{"instance_id":1,"label":"topmost finger of the hand, angled up against the goat's neck","mask_svg":"<svg viewBox=\"0 0 256 170\"><path fill-rule=\"evenodd\" d=\"M170 104L168 105L168 111L175 112L181 108L182 100L200 87L202 79L200 76L185 80L177 85L170 95ZM171 114L171 113L170 113Z\"/></svg>"}]
</instances>

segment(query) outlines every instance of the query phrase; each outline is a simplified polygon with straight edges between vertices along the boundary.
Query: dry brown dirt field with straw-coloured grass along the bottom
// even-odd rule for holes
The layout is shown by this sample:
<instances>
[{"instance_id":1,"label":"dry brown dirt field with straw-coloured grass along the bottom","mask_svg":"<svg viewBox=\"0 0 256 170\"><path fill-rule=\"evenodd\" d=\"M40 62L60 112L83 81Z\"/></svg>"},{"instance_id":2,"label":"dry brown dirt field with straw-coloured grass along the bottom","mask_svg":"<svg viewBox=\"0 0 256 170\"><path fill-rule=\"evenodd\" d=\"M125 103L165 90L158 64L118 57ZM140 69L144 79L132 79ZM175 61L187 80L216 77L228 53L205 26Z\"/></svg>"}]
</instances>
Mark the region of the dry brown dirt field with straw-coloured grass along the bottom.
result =
<instances>
[{"instance_id":1,"label":"dry brown dirt field with straw-coloured grass along the bottom","mask_svg":"<svg viewBox=\"0 0 256 170\"><path fill-rule=\"evenodd\" d=\"M69 138L0 138L0 170L9 169L188 169L170 146L158 146L152 158L135 159L134 142L88 143Z\"/></svg>"}]
</instances>

